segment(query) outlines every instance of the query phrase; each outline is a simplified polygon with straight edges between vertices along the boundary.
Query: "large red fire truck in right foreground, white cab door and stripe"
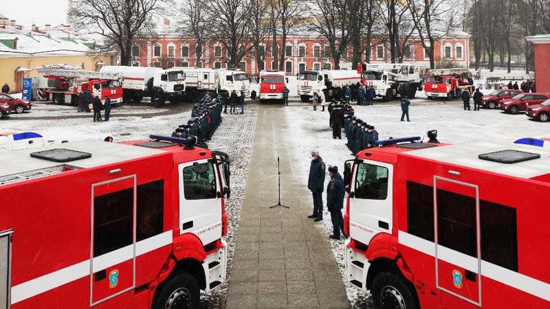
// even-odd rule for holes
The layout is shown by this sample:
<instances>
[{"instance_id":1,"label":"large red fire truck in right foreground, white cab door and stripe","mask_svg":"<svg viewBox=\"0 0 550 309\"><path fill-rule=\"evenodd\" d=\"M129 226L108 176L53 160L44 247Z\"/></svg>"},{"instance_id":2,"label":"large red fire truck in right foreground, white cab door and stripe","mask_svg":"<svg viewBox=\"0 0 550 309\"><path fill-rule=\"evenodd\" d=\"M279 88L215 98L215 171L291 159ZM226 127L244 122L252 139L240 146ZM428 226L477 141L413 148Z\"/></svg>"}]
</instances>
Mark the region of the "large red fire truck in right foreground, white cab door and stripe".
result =
<instances>
[{"instance_id":1,"label":"large red fire truck in right foreground, white cab door and stripe","mask_svg":"<svg viewBox=\"0 0 550 309\"><path fill-rule=\"evenodd\" d=\"M419 139L346 164L349 282L375 308L550 308L549 142Z\"/></svg>"}]
</instances>

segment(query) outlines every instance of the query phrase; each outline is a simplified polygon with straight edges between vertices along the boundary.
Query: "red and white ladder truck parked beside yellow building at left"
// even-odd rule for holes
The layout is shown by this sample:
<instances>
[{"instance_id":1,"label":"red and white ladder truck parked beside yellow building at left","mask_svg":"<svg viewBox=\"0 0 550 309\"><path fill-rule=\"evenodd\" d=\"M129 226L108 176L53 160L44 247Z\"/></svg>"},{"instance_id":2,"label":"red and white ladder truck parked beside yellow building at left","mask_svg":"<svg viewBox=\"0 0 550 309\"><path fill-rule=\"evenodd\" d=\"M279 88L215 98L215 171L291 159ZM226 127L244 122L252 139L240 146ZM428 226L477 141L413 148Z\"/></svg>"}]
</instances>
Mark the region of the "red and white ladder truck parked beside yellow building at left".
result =
<instances>
[{"instance_id":1,"label":"red and white ladder truck parked beside yellow building at left","mask_svg":"<svg viewBox=\"0 0 550 309\"><path fill-rule=\"evenodd\" d=\"M56 104L77 104L78 95L89 90L99 96L104 103L105 96L111 104L122 103L120 75L74 69L36 69L38 71L39 100L53 101Z\"/></svg>"}]
</instances>

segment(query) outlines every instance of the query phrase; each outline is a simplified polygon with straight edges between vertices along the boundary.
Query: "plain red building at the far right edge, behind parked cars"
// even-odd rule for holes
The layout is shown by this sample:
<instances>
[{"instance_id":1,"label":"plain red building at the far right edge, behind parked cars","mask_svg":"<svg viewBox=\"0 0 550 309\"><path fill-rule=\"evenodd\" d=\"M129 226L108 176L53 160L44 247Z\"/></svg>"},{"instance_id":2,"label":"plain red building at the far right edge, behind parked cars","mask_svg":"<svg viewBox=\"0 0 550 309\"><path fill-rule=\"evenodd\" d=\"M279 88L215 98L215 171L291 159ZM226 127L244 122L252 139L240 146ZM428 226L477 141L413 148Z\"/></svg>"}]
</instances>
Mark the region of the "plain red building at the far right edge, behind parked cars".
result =
<instances>
[{"instance_id":1,"label":"plain red building at the far right edge, behind parked cars","mask_svg":"<svg viewBox=\"0 0 550 309\"><path fill-rule=\"evenodd\" d=\"M550 34L528 36L535 45L535 82L537 92L550 92Z\"/></svg>"}]
</instances>

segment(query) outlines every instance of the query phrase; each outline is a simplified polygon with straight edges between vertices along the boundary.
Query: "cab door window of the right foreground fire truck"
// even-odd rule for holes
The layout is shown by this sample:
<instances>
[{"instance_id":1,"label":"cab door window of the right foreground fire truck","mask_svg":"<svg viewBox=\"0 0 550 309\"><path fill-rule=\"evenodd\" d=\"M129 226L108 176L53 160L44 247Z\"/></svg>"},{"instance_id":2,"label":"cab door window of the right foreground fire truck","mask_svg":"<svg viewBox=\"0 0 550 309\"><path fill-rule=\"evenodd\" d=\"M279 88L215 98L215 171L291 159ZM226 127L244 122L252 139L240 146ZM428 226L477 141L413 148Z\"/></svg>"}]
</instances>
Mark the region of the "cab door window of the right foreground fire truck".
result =
<instances>
[{"instance_id":1,"label":"cab door window of the right foreground fire truck","mask_svg":"<svg viewBox=\"0 0 550 309\"><path fill-rule=\"evenodd\" d=\"M355 198L385 200L388 197L388 169L360 163L355 176Z\"/></svg>"}]
</instances>

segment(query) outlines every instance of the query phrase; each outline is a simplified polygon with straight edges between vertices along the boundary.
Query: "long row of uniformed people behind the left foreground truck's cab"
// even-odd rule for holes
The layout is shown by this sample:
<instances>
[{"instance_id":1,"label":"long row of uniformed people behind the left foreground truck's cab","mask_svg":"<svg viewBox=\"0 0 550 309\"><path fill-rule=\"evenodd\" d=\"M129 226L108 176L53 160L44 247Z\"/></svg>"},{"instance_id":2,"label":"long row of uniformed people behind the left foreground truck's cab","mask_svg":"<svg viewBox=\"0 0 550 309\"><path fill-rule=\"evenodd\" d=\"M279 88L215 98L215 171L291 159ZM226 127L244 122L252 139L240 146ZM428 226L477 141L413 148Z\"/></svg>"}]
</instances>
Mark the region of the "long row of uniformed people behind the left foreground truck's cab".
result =
<instances>
[{"instance_id":1,"label":"long row of uniformed people behind the left foreground truck's cab","mask_svg":"<svg viewBox=\"0 0 550 309\"><path fill-rule=\"evenodd\" d=\"M197 146L208 148L206 141L212 138L214 132L221 124L221 113L223 100L221 95L216 97L208 93L193 106L191 119L187 124L181 124L172 133L172 137L186 139L190 136L197 137Z\"/></svg>"}]
</instances>

